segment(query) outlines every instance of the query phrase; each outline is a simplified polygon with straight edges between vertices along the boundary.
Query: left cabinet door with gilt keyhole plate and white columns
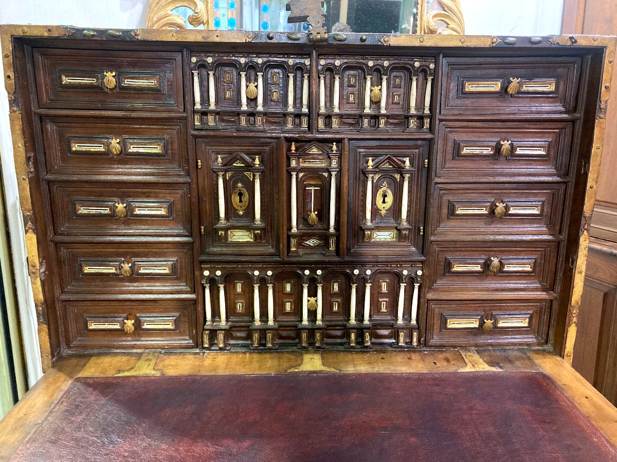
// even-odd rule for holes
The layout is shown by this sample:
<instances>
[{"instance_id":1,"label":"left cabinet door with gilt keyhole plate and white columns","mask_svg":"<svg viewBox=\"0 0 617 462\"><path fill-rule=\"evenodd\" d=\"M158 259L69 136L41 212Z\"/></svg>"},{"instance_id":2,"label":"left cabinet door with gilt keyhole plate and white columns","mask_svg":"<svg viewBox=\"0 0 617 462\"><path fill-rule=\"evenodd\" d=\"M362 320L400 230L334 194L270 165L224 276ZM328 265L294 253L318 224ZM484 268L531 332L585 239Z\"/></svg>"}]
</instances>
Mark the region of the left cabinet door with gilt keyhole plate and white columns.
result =
<instances>
[{"instance_id":1,"label":"left cabinet door with gilt keyhole plate and white columns","mask_svg":"<svg viewBox=\"0 0 617 462\"><path fill-rule=\"evenodd\" d=\"M197 141L202 249L208 255L278 255L279 187L272 140Z\"/></svg>"}]
</instances>

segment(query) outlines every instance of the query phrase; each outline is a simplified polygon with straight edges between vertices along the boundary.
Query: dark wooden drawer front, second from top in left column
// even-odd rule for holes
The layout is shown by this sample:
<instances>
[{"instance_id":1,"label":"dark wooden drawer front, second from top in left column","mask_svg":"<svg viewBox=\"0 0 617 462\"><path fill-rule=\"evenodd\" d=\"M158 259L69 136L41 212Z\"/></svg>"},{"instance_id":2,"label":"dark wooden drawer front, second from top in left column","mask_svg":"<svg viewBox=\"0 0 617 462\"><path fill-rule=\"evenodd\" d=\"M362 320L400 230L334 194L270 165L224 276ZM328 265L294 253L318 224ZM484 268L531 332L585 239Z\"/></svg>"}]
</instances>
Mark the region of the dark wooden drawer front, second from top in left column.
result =
<instances>
[{"instance_id":1,"label":"dark wooden drawer front, second from top in left column","mask_svg":"<svg viewBox=\"0 0 617 462\"><path fill-rule=\"evenodd\" d=\"M184 124L100 118L46 118L50 174L188 175Z\"/></svg>"}]
</instances>

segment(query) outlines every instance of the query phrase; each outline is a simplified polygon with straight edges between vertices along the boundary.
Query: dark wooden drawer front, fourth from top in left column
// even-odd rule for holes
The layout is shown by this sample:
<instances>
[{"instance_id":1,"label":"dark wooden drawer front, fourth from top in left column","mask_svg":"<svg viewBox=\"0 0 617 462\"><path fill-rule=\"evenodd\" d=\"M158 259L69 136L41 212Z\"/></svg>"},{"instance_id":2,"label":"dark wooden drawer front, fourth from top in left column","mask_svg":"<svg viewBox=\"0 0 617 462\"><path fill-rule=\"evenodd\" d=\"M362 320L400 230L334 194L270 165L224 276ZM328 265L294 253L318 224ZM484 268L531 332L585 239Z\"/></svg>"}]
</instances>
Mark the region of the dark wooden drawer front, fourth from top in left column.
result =
<instances>
[{"instance_id":1,"label":"dark wooden drawer front, fourth from top in left column","mask_svg":"<svg viewBox=\"0 0 617 462\"><path fill-rule=\"evenodd\" d=\"M60 244L64 294L193 293L186 244Z\"/></svg>"}]
</instances>

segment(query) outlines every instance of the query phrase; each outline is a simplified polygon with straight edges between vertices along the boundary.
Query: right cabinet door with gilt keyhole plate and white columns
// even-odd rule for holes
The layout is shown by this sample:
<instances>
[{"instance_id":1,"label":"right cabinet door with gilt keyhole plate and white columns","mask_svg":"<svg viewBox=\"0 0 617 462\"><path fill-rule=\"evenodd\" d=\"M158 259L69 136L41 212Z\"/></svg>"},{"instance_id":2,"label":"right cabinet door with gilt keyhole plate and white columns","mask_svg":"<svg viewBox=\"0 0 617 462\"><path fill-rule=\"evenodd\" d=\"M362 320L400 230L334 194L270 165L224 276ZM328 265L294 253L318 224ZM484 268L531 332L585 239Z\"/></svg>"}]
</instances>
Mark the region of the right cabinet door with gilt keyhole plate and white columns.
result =
<instances>
[{"instance_id":1,"label":"right cabinet door with gilt keyhole plate and white columns","mask_svg":"<svg viewBox=\"0 0 617 462\"><path fill-rule=\"evenodd\" d=\"M421 257L428 145L350 142L349 256Z\"/></svg>"}]
</instances>

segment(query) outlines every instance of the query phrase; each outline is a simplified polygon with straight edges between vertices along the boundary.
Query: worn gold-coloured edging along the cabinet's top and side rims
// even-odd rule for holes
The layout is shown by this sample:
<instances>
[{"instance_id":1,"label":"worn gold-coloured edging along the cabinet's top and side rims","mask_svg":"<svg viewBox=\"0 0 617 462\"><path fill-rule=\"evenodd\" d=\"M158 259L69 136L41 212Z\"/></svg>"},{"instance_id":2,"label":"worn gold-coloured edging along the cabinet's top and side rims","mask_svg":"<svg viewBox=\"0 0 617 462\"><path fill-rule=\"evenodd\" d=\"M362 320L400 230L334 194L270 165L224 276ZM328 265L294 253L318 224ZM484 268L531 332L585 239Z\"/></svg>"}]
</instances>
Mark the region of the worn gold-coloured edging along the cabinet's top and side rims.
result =
<instances>
[{"instance_id":1,"label":"worn gold-coloured edging along the cabinet's top and side rims","mask_svg":"<svg viewBox=\"0 0 617 462\"><path fill-rule=\"evenodd\" d=\"M41 347L41 362L43 372L51 368L51 348L49 344L48 325L43 321L44 298L39 274L38 243L33 226L33 205L28 182L27 156L23 139L22 113L15 105L15 71L13 63L12 37L28 38L62 38L71 36L75 28L65 26L44 25L0 25L0 41L2 52L2 67L4 69L4 85L9 98L9 122L14 151L15 171L19 185L19 200L25 223L25 243L28 256L28 274L35 301L38 322L38 338ZM77 30L80 30L77 28ZM106 30L101 30L106 31ZM216 30L177 30L177 29L135 29L128 30L130 35L139 41L187 41L187 42L220 42L244 43L255 38L255 33L248 31L216 31ZM109 32L109 30L108 30ZM284 34L278 34L283 36ZM386 34L379 43L384 46L424 46L424 47L494 47L502 41L497 36L455 35L455 34ZM563 359L572 364L574 342L578 323L579 309L582 300L582 289L585 280L587 253L589 251L589 224L595 205L600 163L602 161L603 145L606 132L606 110L610 97L610 83L615 64L617 36L598 36L581 34L562 34L552 36L549 42L559 46L603 47L601 88L597 101L597 111L594 124L593 147L590 157L589 175L587 176L586 193L579 231L579 244L572 290L566 318L566 331L563 339ZM276 43L276 42L275 42Z\"/></svg>"}]
</instances>

